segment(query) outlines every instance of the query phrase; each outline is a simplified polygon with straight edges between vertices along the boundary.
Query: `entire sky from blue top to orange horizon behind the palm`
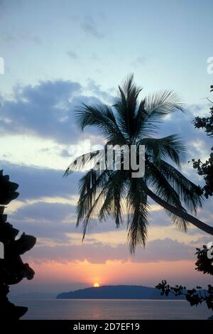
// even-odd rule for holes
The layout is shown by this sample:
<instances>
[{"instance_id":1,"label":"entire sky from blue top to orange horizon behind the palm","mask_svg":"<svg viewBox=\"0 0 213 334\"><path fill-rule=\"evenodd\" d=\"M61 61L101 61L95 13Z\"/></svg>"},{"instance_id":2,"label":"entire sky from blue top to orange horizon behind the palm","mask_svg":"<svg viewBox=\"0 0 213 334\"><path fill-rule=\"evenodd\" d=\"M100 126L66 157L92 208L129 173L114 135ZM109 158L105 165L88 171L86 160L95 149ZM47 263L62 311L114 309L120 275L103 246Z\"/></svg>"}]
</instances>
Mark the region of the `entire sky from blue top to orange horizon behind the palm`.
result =
<instances>
[{"instance_id":1,"label":"entire sky from blue top to orange horizon behind the palm","mask_svg":"<svg viewBox=\"0 0 213 334\"><path fill-rule=\"evenodd\" d=\"M13 286L59 293L99 284L155 286L208 284L195 271L195 248L212 241L195 227L183 233L151 202L146 248L130 256L126 226L111 218L84 242L75 227L81 173L62 178L72 161L70 145L102 144L94 129L77 129L81 102L112 104L117 86L133 73L141 98L178 92L185 113L173 114L159 136L180 134L187 145L182 173L197 184L191 158L205 160L212 146L192 120L209 110L213 75L210 0L0 0L0 167L19 183L20 196L6 208L9 222L38 241L23 256L33 281ZM212 222L212 199L198 217Z\"/></svg>"}]
</instances>

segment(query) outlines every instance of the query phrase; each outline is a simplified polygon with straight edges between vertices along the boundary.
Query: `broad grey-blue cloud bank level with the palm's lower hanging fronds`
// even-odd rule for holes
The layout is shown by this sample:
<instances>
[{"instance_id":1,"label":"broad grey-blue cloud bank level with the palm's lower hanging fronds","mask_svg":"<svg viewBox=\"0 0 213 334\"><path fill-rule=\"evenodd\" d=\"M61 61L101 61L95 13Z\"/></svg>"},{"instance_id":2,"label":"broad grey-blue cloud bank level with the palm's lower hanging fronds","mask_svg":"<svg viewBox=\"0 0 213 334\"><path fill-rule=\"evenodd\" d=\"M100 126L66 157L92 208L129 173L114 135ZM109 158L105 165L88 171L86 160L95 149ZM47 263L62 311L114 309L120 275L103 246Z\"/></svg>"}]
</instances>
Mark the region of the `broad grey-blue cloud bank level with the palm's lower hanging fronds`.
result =
<instances>
[{"instance_id":1,"label":"broad grey-blue cloud bank level with the palm's lower hanging fronds","mask_svg":"<svg viewBox=\"0 0 213 334\"><path fill-rule=\"evenodd\" d=\"M1 162L1 168L4 168L4 173L10 175L11 181L20 185L18 188L20 192L18 199L13 201L8 208L9 212L10 208L12 208L11 213L9 213L9 219L14 225L17 225L21 231L29 232L38 237L55 239L57 238L57 233L60 233L60 239L64 239L67 242L67 233L78 233L79 240L82 238L81 227L75 229L75 204L78 198L78 182L82 173L73 173L68 178L63 178L62 171L20 166L6 162ZM152 209L153 203L151 202L150 204ZM159 209L154 205L153 210L150 212L148 217L150 228L172 228L173 222L165 214L164 210ZM204 222L211 223L211 201L206 201L204 208L198 213L198 217ZM124 238L124 242L126 242L125 219L124 225L119 230L115 229L112 217L109 217L107 222L102 224L97 222L97 224L92 224L91 226L90 234L94 239L99 240L100 236L105 233L102 239L106 238L107 242L107 232L111 231L114 233L116 243L120 235L122 236L121 239ZM54 232L54 236L53 230L57 231ZM187 235L192 238L198 232L201 231L190 229ZM152 237L152 235L150 236ZM160 237L163 237L163 235ZM111 239L111 242L114 242L113 239Z\"/></svg>"}]
</instances>

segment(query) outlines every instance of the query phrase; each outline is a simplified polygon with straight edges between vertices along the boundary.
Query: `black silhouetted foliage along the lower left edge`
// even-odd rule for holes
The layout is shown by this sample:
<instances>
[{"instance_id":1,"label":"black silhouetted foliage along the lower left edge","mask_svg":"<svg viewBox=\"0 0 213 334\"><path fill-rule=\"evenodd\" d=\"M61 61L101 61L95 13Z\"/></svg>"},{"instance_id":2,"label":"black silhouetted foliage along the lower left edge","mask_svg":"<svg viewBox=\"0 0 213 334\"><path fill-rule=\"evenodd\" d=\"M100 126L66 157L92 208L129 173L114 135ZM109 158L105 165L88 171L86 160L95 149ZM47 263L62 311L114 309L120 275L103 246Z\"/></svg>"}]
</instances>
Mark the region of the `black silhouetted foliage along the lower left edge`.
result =
<instances>
[{"instance_id":1,"label":"black silhouetted foliage along the lower left edge","mask_svg":"<svg viewBox=\"0 0 213 334\"><path fill-rule=\"evenodd\" d=\"M9 301L9 286L19 283L24 277L33 279L35 274L21 259L21 255L35 245L35 237L23 233L16 239L19 231L7 222L7 215L4 215L4 205L18 197L17 189L18 184L9 181L9 176L0 171L0 242L4 244L4 258L0 258L0 317L10 321L21 318L28 308L15 306Z\"/></svg>"}]
</instances>

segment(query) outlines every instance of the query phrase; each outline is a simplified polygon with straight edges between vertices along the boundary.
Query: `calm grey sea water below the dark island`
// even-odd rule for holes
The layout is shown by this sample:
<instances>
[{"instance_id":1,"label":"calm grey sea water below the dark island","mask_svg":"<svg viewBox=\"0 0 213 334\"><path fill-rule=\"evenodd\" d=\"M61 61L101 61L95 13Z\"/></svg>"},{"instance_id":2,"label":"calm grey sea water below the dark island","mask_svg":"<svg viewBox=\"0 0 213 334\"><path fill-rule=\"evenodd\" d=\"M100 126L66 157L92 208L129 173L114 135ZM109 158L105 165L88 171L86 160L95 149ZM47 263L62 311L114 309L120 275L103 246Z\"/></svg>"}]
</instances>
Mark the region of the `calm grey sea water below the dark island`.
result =
<instances>
[{"instance_id":1,"label":"calm grey sea water below the dark island","mask_svg":"<svg viewBox=\"0 0 213 334\"><path fill-rule=\"evenodd\" d=\"M136 299L48 299L15 301L28 306L22 319L207 319L206 306L190 307L187 301Z\"/></svg>"}]
</instances>

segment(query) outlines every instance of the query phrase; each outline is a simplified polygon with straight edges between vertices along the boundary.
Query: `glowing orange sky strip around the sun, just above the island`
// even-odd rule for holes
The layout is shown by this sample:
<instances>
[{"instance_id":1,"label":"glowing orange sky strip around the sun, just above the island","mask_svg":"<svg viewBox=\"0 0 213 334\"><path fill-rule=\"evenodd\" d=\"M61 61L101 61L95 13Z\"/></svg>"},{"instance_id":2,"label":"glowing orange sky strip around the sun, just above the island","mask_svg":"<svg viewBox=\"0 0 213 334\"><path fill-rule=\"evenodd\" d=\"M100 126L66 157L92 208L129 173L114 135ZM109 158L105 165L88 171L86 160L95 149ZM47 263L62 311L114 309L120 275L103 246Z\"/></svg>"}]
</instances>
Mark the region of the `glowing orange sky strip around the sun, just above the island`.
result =
<instances>
[{"instance_id":1,"label":"glowing orange sky strip around the sun, just above the island","mask_svg":"<svg viewBox=\"0 0 213 334\"><path fill-rule=\"evenodd\" d=\"M34 283L72 284L82 282L87 286L113 284L136 284L155 286L162 279L171 284L208 284L209 279L195 271L194 261L176 262L121 262L107 261L94 264L85 261L31 263L35 270ZM192 286L191 286L192 287Z\"/></svg>"}]
</instances>

